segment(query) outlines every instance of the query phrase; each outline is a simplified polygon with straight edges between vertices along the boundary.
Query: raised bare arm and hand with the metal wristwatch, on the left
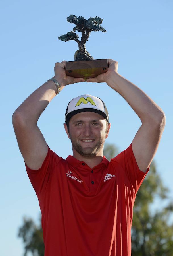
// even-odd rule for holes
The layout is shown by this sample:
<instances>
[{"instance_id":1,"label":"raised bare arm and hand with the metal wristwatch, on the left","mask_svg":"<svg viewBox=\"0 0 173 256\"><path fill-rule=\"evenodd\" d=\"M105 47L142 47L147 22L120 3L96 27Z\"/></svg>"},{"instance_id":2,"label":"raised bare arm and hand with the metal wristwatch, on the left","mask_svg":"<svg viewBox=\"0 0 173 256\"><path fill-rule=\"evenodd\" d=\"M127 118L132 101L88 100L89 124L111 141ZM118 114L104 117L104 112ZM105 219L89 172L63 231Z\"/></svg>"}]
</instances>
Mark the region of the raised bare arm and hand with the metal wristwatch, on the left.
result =
<instances>
[{"instance_id":1,"label":"raised bare arm and hand with the metal wristwatch, on the left","mask_svg":"<svg viewBox=\"0 0 173 256\"><path fill-rule=\"evenodd\" d=\"M83 78L66 76L65 62L57 62L54 67L55 76L53 78L59 82L61 90L68 84L85 81ZM33 170L41 168L48 152L47 143L37 126L37 121L49 102L55 97L56 92L57 88L53 81L45 82L28 96L12 115L12 124L20 152L27 166Z\"/></svg>"}]
</instances>

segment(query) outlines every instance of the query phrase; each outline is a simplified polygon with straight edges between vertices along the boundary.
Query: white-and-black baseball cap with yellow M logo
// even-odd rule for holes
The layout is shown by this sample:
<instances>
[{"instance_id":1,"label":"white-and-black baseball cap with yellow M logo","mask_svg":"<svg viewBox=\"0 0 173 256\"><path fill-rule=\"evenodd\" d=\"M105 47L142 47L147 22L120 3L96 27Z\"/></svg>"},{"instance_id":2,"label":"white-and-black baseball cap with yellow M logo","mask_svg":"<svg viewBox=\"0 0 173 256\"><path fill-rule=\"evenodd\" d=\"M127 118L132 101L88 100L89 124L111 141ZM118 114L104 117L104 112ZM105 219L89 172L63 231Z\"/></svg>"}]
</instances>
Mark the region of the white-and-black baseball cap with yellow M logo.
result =
<instances>
[{"instance_id":1,"label":"white-and-black baseball cap with yellow M logo","mask_svg":"<svg viewBox=\"0 0 173 256\"><path fill-rule=\"evenodd\" d=\"M65 122L69 121L73 115L85 111L98 113L109 123L109 114L103 100L89 94L83 94L70 100L65 113Z\"/></svg>"}]
</instances>

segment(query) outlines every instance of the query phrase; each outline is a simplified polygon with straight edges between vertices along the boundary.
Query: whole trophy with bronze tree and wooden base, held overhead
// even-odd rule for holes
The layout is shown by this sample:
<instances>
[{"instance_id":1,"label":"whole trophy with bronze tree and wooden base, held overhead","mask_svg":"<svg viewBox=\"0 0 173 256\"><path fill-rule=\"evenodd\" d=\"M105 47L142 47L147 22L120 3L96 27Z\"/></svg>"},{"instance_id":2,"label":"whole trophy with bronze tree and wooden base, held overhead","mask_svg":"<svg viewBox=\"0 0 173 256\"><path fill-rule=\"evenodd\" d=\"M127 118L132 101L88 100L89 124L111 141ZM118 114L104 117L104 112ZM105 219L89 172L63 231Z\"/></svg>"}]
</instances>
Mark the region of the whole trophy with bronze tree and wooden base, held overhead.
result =
<instances>
[{"instance_id":1,"label":"whole trophy with bronze tree and wooden base, held overhead","mask_svg":"<svg viewBox=\"0 0 173 256\"><path fill-rule=\"evenodd\" d=\"M64 42L69 40L74 40L78 43L79 50L74 54L74 61L66 61L66 75L71 77L82 77L85 81L88 78L96 77L101 73L105 73L108 70L108 60L107 59L93 59L93 57L86 50L85 43L88 41L91 31L106 32L106 30L100 26L103 19L99 17L84 19L82 16L76 17L75 15L70 15L67 21L74 23L76 26L73 31L67 32L67 34L58 36L59 40ZM79 36L75 31L81 32L81 40L78 40Z\"/></svg>"}]
</instances>

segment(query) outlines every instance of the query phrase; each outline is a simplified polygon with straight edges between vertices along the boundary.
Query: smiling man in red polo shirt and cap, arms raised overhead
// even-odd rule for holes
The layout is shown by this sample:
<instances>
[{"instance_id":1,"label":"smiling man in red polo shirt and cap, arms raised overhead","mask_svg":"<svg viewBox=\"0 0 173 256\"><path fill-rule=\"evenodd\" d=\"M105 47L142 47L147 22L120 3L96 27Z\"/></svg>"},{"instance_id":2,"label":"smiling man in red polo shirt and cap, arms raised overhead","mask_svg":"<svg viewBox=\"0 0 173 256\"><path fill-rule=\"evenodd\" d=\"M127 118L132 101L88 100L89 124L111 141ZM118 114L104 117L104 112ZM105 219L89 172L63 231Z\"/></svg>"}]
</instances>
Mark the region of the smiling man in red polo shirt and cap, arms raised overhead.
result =
<instances>
[{"instance_id":1,"label":"smiling man in red polo shirt and cap, arms raised overhead","mask_svg":"<svg viewBox=\"0 0 173 256\"><path fill-rule=\"evenodd\" d=\"M166 118L149 96L118 74L118 62L108 59L108 64L106 73L87 82L106 82L124 97L142 123L130 146L110 162L103 156L103 145L111 123L104 102L95 96L78 96L67 106L64 128L73 156L63 159L53 152L37 127L39 116L60 92L56 81L61 90L84 81L66 76L65 61L55 63L55 83L48 80L40 86L12 117L39 200L45 256L131 255L134 201L157 151Z\"/></svg>"}]
</instances>

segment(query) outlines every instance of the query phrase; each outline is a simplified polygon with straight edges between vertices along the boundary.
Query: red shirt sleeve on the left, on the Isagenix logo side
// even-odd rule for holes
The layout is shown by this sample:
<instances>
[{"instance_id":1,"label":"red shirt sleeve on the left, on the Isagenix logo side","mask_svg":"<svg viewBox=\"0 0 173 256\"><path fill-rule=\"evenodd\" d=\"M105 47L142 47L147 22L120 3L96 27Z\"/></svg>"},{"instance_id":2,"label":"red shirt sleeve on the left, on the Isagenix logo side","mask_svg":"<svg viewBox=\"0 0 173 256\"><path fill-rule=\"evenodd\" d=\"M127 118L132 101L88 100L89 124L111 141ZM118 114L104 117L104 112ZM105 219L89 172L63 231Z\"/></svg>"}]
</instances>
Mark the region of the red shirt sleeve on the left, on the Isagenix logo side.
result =
<instances>
[{"instance_id":1,"label":"red shirt sleeve on the left, on the Isagenix logo side","mask_svg":"<svg viewBox=\"0 0 173 256\"><path fill-rule=\"evenodd\" d=\"M48 145L47 147L48 152L41 168L38 170L32 170L25 163L26 172L37 195L45 191L53 168L55 168L58 162L62 159L62 157L59 157L55 152L53 152Z\"/></svg>"}]
</instances>

